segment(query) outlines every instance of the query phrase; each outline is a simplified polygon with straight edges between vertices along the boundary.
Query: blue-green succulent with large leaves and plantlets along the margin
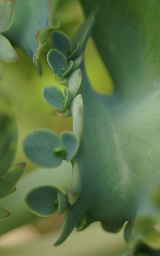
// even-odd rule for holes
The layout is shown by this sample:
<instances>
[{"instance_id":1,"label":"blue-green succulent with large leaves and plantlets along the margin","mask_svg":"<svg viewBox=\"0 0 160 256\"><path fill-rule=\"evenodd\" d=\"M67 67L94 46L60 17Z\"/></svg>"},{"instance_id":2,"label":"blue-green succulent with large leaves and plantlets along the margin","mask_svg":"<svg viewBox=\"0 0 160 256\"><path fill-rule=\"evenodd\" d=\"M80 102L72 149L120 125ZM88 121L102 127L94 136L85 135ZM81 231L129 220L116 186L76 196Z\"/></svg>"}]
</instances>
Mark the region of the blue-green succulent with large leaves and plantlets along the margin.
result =
<instances>
[{"instance_id":1,"label":"blue-green succulent with large leaves and plantlets along the margin","mask_svg":"<svg viewBox=\"0 0 160 256\"><path fill-rule=\"evenodd\" d=\"M101 221L109 232L118 232L127 222L124 236L132 255L159 255L160 2L81 3L87 15L96 7L72 40L58 30L54 16L58 1L16 0L13 26L5 33L40 70L40 52L53 29L47 61L64 92L44 86L43 99L60 117L73 118L73 131L62 132L60 138L40 128L23 140L25 155L38 166L71 161L70 189L35 187L25 200L38 216L65 211L54 245L62 244L75 227L80 231L94 221ZM115 84L111 96L96 93L85 70L85 45L94 24L93 38Z\"/></svg>"}]
</instances>

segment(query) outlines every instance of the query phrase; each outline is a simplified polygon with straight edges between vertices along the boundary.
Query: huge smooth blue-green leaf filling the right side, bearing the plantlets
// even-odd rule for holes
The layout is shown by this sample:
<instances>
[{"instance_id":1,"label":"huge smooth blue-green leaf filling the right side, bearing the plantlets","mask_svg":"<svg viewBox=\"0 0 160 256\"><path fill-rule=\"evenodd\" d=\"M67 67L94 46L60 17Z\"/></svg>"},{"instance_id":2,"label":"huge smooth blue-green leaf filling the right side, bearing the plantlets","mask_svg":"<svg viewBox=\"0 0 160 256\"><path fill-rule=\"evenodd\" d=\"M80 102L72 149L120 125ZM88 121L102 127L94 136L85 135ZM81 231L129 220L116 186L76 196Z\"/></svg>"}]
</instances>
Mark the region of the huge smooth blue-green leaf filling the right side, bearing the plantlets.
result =
<instances>
[{"instance_id":1,"label":"huge smooth blue-green leaf filling the right side, bearing the plantlets","mask_svg":"<svg viewBox=\"0 0 160 256\"><path fill-rule=\"evenodd\" d=\"M125 221L133 222L135 216L139 219L143 213L134 226L140 229L146 209L152 216L151 197L160 182L160 2L82 0L82 3L87 14L99 4L93 35L116 89L112 96L96 94L84 63L80 66L84 125L75 160L81 190L77 201L65 212L55 245L66 239L84 214L81 229L99 220L105 230L117 232ZM158 213L153 217L154 223ZM159 235L154 240L153 228L152 224L143 239L157 250ZM131 240L132 232L127 235ZM134 241L139 240L143 230L135 236Z\"/></svg>"}]
</instances>

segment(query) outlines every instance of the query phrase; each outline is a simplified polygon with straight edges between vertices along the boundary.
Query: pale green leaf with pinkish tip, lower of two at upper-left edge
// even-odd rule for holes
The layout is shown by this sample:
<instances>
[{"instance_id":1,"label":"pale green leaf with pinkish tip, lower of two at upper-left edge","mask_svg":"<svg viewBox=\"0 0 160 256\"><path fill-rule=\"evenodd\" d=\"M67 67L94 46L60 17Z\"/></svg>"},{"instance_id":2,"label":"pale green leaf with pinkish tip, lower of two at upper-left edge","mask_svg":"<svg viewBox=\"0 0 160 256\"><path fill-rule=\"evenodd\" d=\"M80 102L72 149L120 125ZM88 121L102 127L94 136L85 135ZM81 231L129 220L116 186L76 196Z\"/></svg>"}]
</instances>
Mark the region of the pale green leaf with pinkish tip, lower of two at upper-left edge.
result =
<instances>
[{"instance_id":1,"label":"pale green leaf with pinkish tip, lower of two at upper-left edge","mask_svg":"<svg viewBox=\"0 0 160 256\"><path fill-rule=\"evenodd\" d=\"M10 41L3 35L0 35L0 59L7 62L12 62L18 59Z\"/></svg>"}]
</instances>

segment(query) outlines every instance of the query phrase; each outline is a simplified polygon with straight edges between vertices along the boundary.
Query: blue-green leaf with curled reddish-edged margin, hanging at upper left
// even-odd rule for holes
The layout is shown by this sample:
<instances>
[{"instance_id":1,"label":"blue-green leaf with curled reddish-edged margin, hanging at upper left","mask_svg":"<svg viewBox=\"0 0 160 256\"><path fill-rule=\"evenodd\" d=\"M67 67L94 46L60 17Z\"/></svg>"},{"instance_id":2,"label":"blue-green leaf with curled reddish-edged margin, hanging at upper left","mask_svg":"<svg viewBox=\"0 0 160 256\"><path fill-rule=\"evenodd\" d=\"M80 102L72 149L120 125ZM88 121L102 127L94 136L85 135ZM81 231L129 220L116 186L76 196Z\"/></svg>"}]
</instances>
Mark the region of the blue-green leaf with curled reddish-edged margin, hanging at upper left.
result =
<instances>
[{"instance_id":1,"label":"blue-green leaf with curled reddish-edged margin, hanging at upper left","mask_svg":"<svg viewBox=\"0 0 160 256\"><path fill-rule=\"evenodd\" d=\"M16 12L11 29L5 35L21 46L33 58L45 42L49 29L59 27L54 13L59 0L16 0ZM38 58L34 56L37 63Z\"/></svg>"}]
</instances>

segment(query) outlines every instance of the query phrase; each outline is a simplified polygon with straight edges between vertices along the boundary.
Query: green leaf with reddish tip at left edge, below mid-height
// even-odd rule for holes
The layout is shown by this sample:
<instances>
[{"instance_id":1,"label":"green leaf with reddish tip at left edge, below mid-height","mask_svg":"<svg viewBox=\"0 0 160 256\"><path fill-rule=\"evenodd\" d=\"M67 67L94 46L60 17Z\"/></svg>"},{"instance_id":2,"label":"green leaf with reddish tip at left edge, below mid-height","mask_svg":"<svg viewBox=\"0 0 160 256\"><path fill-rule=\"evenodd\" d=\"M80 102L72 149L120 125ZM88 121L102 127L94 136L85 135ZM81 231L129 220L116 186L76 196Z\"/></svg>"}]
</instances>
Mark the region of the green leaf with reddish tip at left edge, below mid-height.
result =
<instances>
[{"instance_id":1,"label":"green leaf with reddish tip at left edge, below mid-height","mask_svg":"<svg viewBox=\"0 0 160 256\"><path fill-rule=\"evenodd\" d=\"M0 198L16 190L16 183L21 178L26 163L20 163L10 168L6 175L0 177Z\"/></svg>"}]
</instances>

